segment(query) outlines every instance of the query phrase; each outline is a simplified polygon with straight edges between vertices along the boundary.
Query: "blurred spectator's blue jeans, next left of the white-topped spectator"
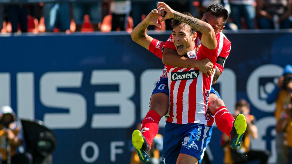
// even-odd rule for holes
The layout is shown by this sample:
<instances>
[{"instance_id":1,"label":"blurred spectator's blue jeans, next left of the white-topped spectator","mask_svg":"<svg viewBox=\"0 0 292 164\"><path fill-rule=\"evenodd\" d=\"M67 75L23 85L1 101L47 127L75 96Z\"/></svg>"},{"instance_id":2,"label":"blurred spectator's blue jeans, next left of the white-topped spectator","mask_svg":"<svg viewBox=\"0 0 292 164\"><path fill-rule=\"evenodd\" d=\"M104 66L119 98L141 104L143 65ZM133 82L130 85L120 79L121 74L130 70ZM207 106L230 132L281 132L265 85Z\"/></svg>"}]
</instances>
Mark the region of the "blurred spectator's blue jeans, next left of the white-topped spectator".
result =
<instances>
[{"instance_id":1,"label":"blurred spectator's blue jeans, next left of the white-topped spectator","mask_svg":"<svg viewBox=\"0 0 292 164\"><path fill-rule=\"evenodd\" d=\"M73 17L76 31L81 31L84 15L88 14L94 31L100 31L99 24L102 17L102 0L97 1L74 1L72 2Z\"/></svg>"}]
</instances>

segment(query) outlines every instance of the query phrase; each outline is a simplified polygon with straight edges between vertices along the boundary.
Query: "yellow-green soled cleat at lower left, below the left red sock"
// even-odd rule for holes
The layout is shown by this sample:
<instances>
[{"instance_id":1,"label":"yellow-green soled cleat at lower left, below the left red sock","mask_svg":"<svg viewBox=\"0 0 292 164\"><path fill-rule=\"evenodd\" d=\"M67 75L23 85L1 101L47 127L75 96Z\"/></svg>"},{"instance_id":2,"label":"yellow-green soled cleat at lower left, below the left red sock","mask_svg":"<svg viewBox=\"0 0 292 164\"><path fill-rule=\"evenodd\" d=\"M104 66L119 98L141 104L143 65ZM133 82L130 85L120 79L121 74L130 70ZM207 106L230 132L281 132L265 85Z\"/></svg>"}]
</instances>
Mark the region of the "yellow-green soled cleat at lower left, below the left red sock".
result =
<instances>
[{"instance_id":1,"label":"yellow-green soled cleat at lower left, below the left red sock","mask_svg":"<svg viewBox=\"0 0 292 164\"><path fill-rule=\"evenodd\" d=\"M149 144L147 143L144 135L139 130L133 131L132 144L138 152L140 161L146 163L150 159Z\"/></svg>"}]
</instances>

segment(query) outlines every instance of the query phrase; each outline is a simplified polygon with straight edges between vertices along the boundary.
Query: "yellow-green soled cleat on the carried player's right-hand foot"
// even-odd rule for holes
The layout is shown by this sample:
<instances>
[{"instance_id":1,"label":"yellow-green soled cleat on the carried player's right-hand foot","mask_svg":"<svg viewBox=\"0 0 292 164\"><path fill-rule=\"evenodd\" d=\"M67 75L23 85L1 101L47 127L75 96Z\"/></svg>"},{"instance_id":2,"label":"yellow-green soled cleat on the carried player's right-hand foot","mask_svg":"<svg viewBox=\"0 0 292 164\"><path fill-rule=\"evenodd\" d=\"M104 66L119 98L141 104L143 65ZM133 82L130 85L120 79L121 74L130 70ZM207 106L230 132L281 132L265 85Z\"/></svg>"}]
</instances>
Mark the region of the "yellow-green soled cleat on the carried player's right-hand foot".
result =
<instances>
[{"instance_id":1,"label":"yellow-green soled cleat on the carried player's right-hand foot","mask_svg":"<svg viewBox=\"0 0 292 164\"><path fill-rule=\"evenodd\" d=\"M246 131L246 119L243 114L238 114L233 122L230 132L230 147L238 149L241 143L241 138Z\"/></svg>"}]
</instances>

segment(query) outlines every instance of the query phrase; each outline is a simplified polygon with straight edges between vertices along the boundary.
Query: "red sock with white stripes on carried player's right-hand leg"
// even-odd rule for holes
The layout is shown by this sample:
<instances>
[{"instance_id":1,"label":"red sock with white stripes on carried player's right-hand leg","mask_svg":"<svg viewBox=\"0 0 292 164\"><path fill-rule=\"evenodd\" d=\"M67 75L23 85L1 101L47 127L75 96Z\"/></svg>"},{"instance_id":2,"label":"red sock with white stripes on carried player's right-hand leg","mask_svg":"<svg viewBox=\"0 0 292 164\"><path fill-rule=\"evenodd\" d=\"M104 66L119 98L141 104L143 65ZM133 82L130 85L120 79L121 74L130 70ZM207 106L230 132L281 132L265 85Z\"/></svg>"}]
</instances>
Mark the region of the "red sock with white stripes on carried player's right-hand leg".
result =
<instances>
[{"instance_id":1,"label":"red sock with white stripes on carried player's right-hand leg","mask_svg":"<svg viewBox=\"0 0 292 164\"><path fill-rule=\"evenodd\" d=\"M214 118L218 129L230 137L234 117L225 106L219 107L214 111Z\"/></svg>"}]
</instances>

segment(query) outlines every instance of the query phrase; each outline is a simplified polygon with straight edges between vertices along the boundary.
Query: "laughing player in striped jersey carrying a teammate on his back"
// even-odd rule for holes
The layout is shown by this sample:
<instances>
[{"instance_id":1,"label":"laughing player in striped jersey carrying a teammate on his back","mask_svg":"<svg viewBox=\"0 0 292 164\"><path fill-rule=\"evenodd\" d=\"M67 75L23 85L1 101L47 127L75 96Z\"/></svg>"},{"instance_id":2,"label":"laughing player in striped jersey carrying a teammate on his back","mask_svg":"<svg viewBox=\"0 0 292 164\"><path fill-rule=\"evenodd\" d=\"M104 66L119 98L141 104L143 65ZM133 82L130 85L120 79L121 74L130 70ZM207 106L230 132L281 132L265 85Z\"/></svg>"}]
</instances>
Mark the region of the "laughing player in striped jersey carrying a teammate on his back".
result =
<instances>
[{"instance_id":1,"label":"laughing player in striped jersey carrying a teammate on his back","mask_svg":"<svg viewBox=\"0 0 292 164\"><path fill-rule=\"evenodd\" d=\"M161 21L171 20L173 43L178 55L188 54L195 59L217 60L217 40L213 27L199 19L172 10L163 2L158 8L166 11ZM198 52L194 40L201 31L202 45ZM213 66L215 68L215 65ZM162 149L162 161L167 164L200 163L204 149L211 139L214 118L208 111L208 97L212 77L197 68L178 68L167 65L170 105L166 114L166 126Z\"/></svg>"}]
</instances>

